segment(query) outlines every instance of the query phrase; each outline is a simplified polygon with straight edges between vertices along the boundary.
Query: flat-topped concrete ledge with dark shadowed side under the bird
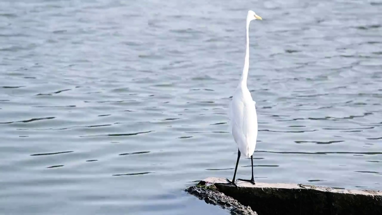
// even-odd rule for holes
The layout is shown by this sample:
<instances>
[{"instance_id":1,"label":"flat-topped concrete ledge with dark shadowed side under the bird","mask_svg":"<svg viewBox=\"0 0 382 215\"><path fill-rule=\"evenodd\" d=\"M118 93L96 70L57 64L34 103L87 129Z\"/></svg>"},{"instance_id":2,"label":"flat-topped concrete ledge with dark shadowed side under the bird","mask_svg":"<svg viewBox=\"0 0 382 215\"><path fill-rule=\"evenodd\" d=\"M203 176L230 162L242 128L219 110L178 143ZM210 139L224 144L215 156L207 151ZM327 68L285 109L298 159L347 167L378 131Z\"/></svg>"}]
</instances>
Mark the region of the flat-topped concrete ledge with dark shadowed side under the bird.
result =
<instances>
[{"instance_id":1,"label":"flat-topped concrete ledge with dark shadowed side under the bird","mask_svg":"<svg viewBox=\"0 0 382 215\"><path fill-rule=\"evenodd\" d=\"M235 187L219 183L227 181L222 178L207 178L199 182L199 187L213 184L217 188L215 193L220 191L241 205L251 207L259 215L382 215L380 191L261 182L253 185L243 181L237 181L238 187Z\"/></svg>"}]
</instances>

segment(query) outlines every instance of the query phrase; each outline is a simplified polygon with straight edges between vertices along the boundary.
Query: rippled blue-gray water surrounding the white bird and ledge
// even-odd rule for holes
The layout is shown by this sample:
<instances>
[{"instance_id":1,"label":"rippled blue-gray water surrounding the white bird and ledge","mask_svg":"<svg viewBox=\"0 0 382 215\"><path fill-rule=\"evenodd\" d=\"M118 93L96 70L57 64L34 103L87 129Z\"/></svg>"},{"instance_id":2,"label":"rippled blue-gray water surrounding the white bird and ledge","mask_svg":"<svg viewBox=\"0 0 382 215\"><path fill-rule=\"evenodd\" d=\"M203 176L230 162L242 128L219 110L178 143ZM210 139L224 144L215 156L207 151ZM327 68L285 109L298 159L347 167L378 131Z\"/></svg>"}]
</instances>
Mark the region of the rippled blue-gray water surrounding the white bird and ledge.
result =
<instances>
[{"instance_id":1,"label":"rippled blue-gray water surrounding the white bird and ledge","mask_svg":"<svg viewBox=\"0 0 382 215\"><path fill-rule=\"evenodd\" d=\"M4 0L0 213L227 213L248 10L256 181L381 189L379 0Z\"/></svg>"}]
</instances>

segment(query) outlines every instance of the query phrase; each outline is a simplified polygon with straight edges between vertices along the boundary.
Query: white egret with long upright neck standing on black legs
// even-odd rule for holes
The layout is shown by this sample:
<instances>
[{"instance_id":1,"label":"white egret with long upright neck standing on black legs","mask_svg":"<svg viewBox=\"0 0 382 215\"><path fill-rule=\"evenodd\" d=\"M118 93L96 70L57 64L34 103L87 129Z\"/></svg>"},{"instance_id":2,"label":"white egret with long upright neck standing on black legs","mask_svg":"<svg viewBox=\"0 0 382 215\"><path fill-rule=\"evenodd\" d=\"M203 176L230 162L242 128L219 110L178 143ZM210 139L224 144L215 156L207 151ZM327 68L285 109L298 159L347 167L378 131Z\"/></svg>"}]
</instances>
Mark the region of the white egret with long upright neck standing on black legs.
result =
<instances>
[{"instance_id":1,"label":"white egret with long upright neck standing on black legs","mask_svg":"<svg viewBox=\"0 0 382 215\"><path fill-rule=\"evenodd\" d=\"M239 85L233 93L232 101L228 115L230 117L230 129L233 138L238 145L238 159L236 161L235 173L233 174L232 181L228 180L228 184L235 184L236 170L241 153L247 158L251 158L252 164L252 178L250 180L238 179L241 181L248 181L255 184L253 177L253 153L256 147L257 139L257 115L256 115L256 102L253 101L251 93L247 88L247 77L249 68L249 23L252 20L262 20L262 18L252 10L248 11L246 22L247 45L244 59L243 73Z\"/></svg>"}]
</instances>

